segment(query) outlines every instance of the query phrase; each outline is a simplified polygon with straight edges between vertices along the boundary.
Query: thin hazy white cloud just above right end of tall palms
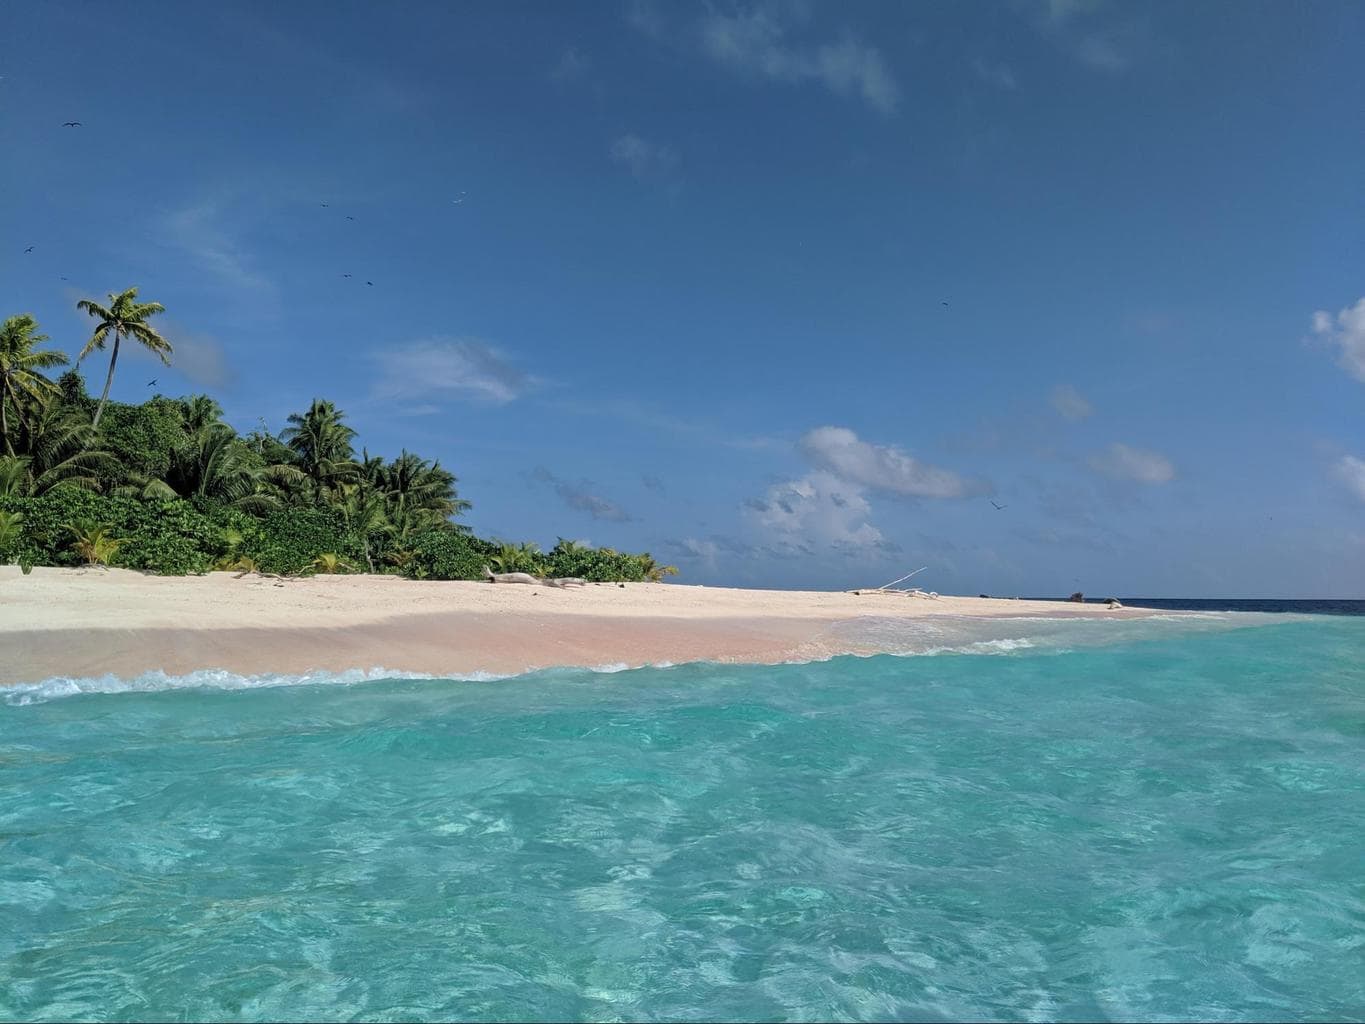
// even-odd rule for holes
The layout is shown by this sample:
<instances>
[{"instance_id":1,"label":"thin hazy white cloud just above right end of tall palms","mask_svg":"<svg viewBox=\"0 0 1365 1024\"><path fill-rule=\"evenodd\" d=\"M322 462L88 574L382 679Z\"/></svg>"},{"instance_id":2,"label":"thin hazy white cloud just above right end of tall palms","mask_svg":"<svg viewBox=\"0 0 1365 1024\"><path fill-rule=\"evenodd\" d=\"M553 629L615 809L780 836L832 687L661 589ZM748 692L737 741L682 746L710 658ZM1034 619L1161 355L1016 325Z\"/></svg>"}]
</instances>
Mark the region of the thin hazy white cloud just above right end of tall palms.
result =
<instances>
[{"instance_id":1,"label":"thin hazy white cloud just above right end of tall palms","mask_svg":"<svg viewBox=\"0 0 1365 1024\"><path fill-rule=\"evenodd\" d=\"M535 384L476 337L431 337L377 352L379 399L459 397L504 404Z\"/></svg>"}]
</instances>

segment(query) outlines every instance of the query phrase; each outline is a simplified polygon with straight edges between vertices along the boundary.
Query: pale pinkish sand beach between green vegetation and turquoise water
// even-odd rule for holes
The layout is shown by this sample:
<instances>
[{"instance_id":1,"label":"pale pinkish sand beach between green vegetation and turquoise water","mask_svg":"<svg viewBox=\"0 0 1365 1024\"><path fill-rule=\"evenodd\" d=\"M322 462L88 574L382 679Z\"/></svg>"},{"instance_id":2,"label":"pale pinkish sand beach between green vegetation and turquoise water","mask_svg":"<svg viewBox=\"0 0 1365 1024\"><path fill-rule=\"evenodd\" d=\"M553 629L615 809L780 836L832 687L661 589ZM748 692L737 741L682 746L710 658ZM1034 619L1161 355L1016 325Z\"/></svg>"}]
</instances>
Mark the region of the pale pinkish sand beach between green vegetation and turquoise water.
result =
<instances>
[{"instance_id":1,"label":"pale pinkish sand beach between green vegetation and turquoise water","mask_svg":"<svg viewBox=\"0 0 1365 1024\"><path fill-rule=\"evenodd\" d=\"M779 662L872 653L853 618L1141 617L1140 609L632 583L551 590L390 576L165 578L0 567L0 684L56 676L340 672L508 674L550 666Z\"/></svg>"}]
</instances>

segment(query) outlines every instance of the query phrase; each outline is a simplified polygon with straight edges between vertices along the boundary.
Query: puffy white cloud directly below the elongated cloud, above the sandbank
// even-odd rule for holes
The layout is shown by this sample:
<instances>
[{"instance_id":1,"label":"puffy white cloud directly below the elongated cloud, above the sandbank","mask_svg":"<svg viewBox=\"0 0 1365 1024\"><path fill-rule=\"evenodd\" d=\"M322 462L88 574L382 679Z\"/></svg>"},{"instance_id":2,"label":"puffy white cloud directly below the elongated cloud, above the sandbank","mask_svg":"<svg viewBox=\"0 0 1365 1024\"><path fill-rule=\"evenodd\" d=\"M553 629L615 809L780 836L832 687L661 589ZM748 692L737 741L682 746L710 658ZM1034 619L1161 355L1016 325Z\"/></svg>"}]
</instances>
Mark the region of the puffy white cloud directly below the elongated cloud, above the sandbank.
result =
<instances>
[{"instance_id":1,"label":"puffy white cloud directly below the elongated cloud, above the sandbank","mask_svg":"<svg viewBox=\"0 0 1365 1024\"><path fill-rule=\"evenodd\" d=\"M845 552L874 552L891 545L870 522L863 489L833 472L811 472L774 483L763 498L745 505L749 516L773 535L774 546L812 553L808 542Z\"/></svg>"}]
</instances>

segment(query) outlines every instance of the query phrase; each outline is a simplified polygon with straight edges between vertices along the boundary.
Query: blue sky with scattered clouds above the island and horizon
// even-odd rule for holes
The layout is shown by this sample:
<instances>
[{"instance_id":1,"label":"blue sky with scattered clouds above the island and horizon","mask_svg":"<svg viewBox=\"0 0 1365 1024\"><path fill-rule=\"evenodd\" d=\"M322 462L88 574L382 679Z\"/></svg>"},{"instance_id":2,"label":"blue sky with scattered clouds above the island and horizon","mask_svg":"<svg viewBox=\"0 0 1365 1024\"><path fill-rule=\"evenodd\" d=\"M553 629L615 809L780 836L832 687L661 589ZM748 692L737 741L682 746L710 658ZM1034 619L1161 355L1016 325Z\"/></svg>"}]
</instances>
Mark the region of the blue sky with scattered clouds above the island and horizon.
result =
<instances>
[{"instance_id":1,"label":"blue sky with scattered clouds above the island and horizon","mask_svg":"<svg viewBox=\"0 0 1365 1024\"><path fill-rule=\"evenodd\" d=\"M75 299L165 303L117 399L329 397L480 532L693 583L1365 597L1358 3L0 33L4 313L75 352Z\"/></svg>"}]
</instances>

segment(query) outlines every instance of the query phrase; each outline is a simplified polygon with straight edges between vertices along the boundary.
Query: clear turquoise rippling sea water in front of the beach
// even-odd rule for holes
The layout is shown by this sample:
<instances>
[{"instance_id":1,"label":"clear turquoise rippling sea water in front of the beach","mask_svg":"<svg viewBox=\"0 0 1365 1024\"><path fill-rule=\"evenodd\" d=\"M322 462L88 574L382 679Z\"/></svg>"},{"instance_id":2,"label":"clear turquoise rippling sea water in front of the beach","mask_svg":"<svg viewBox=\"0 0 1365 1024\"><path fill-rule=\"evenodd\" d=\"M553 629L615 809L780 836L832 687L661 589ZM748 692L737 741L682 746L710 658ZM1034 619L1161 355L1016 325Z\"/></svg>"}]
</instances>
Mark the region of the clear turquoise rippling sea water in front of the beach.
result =
<instances>
[{"instance_id":1,"label":"clear turquoise rippling sea water in front of the beach","mask_svg":"<svg viewBox=\"0 0 1365 1024\"><path fill-rule=\"evenodd\" d=\"M1365 1016L1365 621L1011 628L11 691L0 1017Z\"/></svg>"}]
</instances>

